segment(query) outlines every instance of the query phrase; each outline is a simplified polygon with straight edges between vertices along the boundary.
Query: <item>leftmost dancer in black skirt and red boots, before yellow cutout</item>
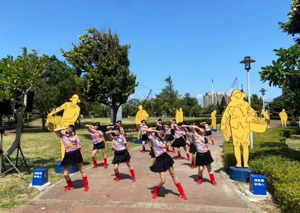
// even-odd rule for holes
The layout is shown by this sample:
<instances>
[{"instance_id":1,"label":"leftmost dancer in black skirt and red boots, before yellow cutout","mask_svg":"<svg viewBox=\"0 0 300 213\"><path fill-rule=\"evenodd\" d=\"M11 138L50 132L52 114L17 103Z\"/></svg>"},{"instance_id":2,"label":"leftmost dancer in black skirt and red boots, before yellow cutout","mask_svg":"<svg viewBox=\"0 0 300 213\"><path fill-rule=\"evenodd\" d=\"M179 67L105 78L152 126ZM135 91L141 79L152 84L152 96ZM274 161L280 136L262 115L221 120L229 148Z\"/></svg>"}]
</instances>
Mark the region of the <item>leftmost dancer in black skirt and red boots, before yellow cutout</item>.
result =
<instances>
[{"instance_id":1,"label":"leftmost dancer in black skirt and red boots, before yellow cutout","mask_svg":"<svg viewBox=\"0 0 300 213\"><path fill-rule=\"evenodd\" d=\"M67 134L63 133L63 130L65 130ZM74 189L73 182L69 176L69 171L73 164L77 164L81 173L83 179L83 190L88 191L88 178L83 166L83 151L80 140L75 133L75 126L70 124L68 127L54 129L54 132L63 140L65 148L65 155L60 163L60 166L64 166L63 175L68 183L68 186L65 187L64 191Z\"/></svg>"}]
</instances>

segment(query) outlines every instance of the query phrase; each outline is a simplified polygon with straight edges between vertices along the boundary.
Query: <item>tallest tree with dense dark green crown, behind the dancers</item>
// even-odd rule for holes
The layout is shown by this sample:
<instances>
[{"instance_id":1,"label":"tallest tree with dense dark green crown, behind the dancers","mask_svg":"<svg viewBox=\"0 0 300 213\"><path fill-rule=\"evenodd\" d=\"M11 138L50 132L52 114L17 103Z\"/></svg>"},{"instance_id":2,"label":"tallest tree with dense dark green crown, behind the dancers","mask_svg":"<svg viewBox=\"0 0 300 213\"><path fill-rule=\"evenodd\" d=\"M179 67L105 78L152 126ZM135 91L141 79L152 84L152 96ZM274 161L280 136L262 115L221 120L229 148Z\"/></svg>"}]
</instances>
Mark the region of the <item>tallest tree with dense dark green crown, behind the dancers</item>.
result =
<instances>
[{"instance_id":1,"label":"tallest tree with dense dark green crown, behind the dancers","mask_svg":"<svg viewBox=\"0 0 300 213\"><path fill-rule=\"evenodd\" d=\"M136 76L129 70L130 45L121 45L117 33L89 28L79 36L79 44L73 44L63 56L73 65L78 75L78 85L88 101L102 103L113 108L116 121L120 105L134 93Z\"/></svg>"}]
</instances>

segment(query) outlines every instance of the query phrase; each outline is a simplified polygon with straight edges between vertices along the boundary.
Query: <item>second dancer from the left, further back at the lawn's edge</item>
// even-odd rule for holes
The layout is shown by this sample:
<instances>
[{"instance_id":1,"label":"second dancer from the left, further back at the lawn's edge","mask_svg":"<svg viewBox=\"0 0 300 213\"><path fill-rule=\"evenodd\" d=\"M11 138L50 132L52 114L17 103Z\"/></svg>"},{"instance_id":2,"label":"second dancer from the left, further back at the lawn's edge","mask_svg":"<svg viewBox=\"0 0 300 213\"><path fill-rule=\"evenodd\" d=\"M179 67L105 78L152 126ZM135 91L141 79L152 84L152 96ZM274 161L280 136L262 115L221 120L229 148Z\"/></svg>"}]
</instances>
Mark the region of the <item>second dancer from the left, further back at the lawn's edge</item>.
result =
<instances>
[{"instance_id":1,"label":"second dancer from the left, further back at the lawn's edge","mask_svg":"<svg viewBox=\"0 0 300 213\"><path fill-rule=\"evenodd\" d=\"M96 154L98 153L98 150L100 149L102 154L103 154L103 161L104 161L104 166L103 169L107 169L107 158L106 158L106 141L103 137L103 132L100 131L100 123L96 122L94 126L91 125L85 125L88 127L88 131L90 132L92 139L93 139L93 152L92 152L92 160L94 163L94 166L92 166L92 169L98 167L98 163L96 160Z\"/></svg>"}]
</instances>

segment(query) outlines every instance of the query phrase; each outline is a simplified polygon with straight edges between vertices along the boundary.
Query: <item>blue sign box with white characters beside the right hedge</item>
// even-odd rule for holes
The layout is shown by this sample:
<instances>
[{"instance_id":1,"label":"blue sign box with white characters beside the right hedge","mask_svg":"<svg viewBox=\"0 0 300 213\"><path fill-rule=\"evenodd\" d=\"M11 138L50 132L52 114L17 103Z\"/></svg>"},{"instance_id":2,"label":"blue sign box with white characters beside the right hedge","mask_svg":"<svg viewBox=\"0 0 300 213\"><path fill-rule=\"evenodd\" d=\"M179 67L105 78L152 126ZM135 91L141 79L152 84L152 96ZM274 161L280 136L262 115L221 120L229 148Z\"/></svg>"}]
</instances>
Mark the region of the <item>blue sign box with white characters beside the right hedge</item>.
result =
<instances>
[{"instance_id":1,"label":"blue sign box with white characters beside the right hedge","mask_svg":"<svg viewBox=\"0 0 300 213\"><path fill-rule=\"evenodd\" d=\"M266 177L262 175L249 175L250 191L254 195L267 195Z\"/></svg>"}]
</instances>

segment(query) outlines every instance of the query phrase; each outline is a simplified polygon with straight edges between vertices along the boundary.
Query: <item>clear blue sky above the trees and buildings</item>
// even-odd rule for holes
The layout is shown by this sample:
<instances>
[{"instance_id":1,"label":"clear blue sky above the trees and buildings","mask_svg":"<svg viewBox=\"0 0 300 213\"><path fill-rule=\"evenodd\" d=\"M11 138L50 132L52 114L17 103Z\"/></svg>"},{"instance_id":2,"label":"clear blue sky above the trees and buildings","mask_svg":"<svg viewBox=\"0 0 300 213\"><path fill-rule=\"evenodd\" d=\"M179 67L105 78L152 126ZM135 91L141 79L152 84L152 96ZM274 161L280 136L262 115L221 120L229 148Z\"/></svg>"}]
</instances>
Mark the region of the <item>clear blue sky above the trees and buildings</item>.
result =
<instances>
[{"instance_id":1,"label":"clear blue sky above the trees and buildings","mask_svg":"<svg viewBox=\"0 0 300 213\"><path fill-rule=\"evenodd\" d=\"M281 90L259 81L260 67L275 59L275 48L287 48L292 37L279 29L291 1L5 1L0 7L0 57L21 53L20 47L55 54L69 50L88 27L111 27L121 43L131 44L130 70L153 95L170 74L180 94L226 92L235 77L247 88L239 62L249 55L257 62L250 71L251 93L266 99ZM138 91L145 95L146 88ZM139 97L137 94L134 97ZM199 101L202 104L202 100Z\"/></svg>"}]
</instances>

